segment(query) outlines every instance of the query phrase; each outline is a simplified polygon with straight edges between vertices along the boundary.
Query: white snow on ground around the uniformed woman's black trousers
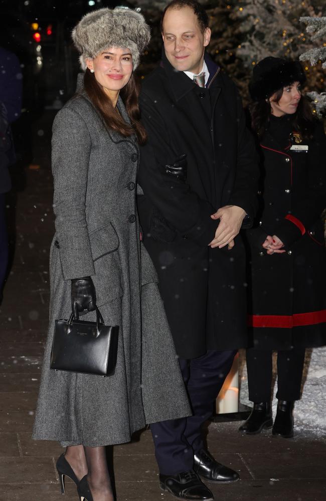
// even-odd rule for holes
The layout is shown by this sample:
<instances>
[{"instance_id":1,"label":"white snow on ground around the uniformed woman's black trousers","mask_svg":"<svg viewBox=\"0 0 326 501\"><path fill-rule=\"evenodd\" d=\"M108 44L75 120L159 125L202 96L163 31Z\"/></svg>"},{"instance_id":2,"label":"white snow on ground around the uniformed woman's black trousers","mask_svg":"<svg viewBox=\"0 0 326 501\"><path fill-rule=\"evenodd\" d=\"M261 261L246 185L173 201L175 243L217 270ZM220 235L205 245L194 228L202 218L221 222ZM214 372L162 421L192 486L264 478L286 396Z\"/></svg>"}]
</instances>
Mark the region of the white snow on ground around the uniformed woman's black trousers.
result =
<instances>
[{"instance_id":1,"label":"white snow on ground around the uniformed woman's black trousers","mask_svg":"<svg viewBox=\"0 0 326 501\"><path fill-rule=\"evenodd\" d=\"M277 379L276 353L273 356L273 374ZM240 402L252 407L248 399L245 352L239 358ZM276 414L277 381L274 384L273 416ZM294 431L304 435L326 437L326 347L306 350L302 377L302 397L295 403Z\"/></svg>"}]
</instances>

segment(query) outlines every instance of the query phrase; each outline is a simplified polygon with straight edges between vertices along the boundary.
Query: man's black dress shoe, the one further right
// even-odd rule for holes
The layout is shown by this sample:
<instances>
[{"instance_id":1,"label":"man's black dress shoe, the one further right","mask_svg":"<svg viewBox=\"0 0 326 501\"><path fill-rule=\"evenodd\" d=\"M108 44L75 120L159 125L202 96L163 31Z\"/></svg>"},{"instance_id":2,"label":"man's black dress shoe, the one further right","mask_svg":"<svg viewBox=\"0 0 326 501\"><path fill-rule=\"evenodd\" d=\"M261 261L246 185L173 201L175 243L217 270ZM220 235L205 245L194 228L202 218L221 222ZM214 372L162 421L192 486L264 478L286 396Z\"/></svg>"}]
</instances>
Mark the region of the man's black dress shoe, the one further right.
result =
<instances>
[{"instance_id":1,"label":"man's black dress shoe, the one further right","mask_svg":"<svg viewBox=\"0 0 326 501\"><path fill-rule=\"evenodd\" d=\"M200 476L219 483L231 483L239 480L240 475L221 463L218 463L208 450L201 449L194 455L194 470Z\"/></svg>"}]
</instances>

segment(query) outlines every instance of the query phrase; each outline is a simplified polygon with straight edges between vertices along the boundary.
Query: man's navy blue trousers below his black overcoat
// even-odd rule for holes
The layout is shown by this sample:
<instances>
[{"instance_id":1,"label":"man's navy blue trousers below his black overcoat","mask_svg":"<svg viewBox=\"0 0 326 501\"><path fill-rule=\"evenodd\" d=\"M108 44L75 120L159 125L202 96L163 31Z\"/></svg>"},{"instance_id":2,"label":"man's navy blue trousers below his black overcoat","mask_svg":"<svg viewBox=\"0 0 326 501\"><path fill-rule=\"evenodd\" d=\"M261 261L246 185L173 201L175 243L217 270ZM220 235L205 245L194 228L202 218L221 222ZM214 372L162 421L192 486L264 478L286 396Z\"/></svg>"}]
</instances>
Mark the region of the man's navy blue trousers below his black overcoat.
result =
<instances>
[{"instance_id":1,"label":"man's navy blue trousers below his black overcoat","mask_svg":"<svg viewBox=\"0 0 326 501\"><path fill-rule=\"evenodd\" d=\"M208 351L192 360L179 359L193 415L150 425L160 473L193 469L194 454L204 446L201 427L213 414L214 401L232 367L236 351Z\"/></svg>"}]
</instances>

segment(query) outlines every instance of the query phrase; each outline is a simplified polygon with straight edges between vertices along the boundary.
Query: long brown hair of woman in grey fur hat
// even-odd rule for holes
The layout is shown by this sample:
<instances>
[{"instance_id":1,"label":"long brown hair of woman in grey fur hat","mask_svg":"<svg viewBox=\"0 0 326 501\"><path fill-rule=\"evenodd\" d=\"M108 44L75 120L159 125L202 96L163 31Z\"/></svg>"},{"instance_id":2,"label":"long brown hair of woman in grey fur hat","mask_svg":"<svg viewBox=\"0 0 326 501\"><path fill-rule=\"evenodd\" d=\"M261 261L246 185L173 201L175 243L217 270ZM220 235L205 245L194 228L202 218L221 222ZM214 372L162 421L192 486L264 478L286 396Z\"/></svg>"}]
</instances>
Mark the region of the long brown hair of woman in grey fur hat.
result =
<instances>
[{"instance_id":1,"label":"long brown hair of woman in grey fur hat","mask_svg":"<svg viewBox=\"0 0 326 501\"><path fill-rule=\"evenodd\" d=\"M138 105L139 84L131 75L129 82L120 91L120 96L129 115L131 125L127 124L114 109L111 100L95 79L94 73L87 68L84 76L84 87L89 99L110 129L128 137L136 133L139 144L146 141L146 131L140 123L140 110Z\"/></svg>"}]
</instances>

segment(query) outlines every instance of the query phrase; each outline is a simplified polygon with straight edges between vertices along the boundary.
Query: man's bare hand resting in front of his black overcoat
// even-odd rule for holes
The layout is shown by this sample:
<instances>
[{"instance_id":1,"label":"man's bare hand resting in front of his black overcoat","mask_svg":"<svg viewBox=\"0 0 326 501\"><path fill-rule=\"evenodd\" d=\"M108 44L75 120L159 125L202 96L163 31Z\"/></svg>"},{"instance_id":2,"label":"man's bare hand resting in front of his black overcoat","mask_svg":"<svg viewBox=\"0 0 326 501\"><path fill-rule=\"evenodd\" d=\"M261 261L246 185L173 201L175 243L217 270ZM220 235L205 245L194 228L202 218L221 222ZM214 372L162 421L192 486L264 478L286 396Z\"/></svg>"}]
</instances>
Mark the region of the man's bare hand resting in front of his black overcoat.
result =
<instances>
[{"instance_id":1,"label":"man's bare hand resting in front of his black overcoat","mask_svg":"<svg viewBox=\"0 0 326 501\"><path fill-rule=\"evenodd\" d=\"M238 205L225 205L220 207L215 214L211 215L212 219L220 219L219 225L215 232L215 237L209 243L209 245L214 247L225 247L228 248L234 246L234 238L240 231L242 221L246 215L245 210Z\"/></svg>"}]
</instances>

